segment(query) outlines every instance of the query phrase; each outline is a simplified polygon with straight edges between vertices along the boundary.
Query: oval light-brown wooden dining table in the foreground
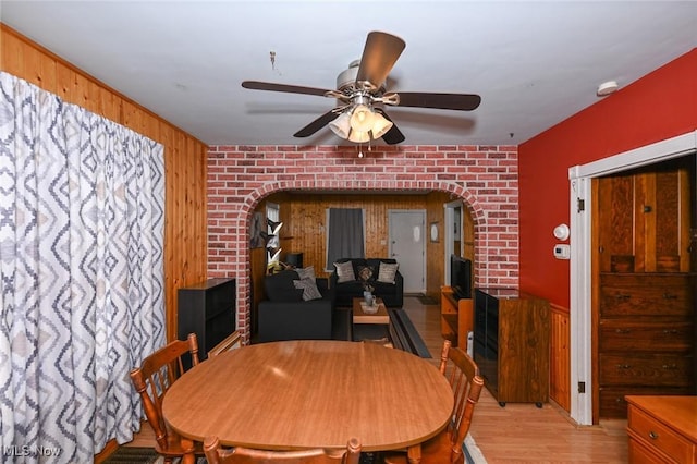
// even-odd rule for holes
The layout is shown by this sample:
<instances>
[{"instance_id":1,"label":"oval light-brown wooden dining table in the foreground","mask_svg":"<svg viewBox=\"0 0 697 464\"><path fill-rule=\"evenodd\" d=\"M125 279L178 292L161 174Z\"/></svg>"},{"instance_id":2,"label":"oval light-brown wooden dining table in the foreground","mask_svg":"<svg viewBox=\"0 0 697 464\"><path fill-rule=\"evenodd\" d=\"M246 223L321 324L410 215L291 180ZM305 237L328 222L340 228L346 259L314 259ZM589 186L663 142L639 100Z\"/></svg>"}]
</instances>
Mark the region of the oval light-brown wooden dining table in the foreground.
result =
<instances>
[{"instance_id":1,"label":"oval light-brown wooden dining table in the foreground","mask_svg":"<svg viewBox=\"0 0 697 464\"><path fill-rule=\"evenodd\" d=\"M183 437L266 450L407 448L441 431L453 392L428 361L374 343L298 340L243 346L179 378L162 414Z\"/></svg>"}]
</instances>

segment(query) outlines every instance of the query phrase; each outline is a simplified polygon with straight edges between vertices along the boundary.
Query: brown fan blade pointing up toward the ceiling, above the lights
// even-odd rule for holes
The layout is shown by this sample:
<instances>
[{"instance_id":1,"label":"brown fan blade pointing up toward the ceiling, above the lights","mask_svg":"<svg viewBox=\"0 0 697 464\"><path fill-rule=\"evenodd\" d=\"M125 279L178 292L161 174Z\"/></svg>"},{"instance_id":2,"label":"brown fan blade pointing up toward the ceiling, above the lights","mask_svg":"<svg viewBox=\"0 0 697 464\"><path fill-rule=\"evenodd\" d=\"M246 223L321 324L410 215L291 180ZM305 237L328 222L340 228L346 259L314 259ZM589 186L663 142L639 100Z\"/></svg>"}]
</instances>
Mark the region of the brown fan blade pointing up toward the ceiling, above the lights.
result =
<instances>
[{"instance_id":1,"label":"brown fan blade pointing up toward the ceiling, above the lights","mask_svg":"<svg viewBox=\"0 0 697 464\"><path fill-rule=\"evenodd\" d=\"M404 47L404 40L396 36L377 30L369 33L356 74L357 86L365 82L376 87L382 85Z\"/></svg>"}]
</instances>

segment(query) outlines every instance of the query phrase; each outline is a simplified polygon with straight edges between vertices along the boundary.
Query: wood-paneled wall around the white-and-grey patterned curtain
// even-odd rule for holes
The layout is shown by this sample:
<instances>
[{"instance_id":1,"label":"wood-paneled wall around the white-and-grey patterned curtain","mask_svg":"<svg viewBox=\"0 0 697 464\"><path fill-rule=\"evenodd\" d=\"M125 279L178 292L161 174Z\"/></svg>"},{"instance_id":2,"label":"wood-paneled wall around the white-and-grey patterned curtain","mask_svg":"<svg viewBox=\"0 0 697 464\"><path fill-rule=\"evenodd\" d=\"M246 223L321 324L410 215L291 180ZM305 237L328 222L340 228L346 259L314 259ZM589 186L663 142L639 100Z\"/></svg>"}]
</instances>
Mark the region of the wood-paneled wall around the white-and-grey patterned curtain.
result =
<instances>
[{"instance_id":1,"label":"wood-paneled wall around the white-and-grey patterned curtain","mask_svg":"<svg viewBox=\"0 0 697 464\"><path fill-rule=\"evenodd\" d=\"M174 339L176 289L206 279L207 146L4 24L0 69L164 146L164 302Z\"/></svg>"}]
</instances>

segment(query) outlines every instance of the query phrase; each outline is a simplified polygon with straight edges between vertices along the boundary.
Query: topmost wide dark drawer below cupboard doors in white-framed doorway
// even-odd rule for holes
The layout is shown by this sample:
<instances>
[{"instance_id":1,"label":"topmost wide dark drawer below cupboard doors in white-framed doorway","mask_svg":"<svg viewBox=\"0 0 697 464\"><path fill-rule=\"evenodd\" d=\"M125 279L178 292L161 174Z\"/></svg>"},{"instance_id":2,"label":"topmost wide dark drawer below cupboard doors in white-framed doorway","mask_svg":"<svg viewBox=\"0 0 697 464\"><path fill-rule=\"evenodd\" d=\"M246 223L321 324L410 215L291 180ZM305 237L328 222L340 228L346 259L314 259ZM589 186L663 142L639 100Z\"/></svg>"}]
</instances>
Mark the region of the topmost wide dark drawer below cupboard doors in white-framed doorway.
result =
<instances>
[{"instance_id":1,"label":"topmost wide dark drawer below cupboard doors in white-framed doorway","mask_svg":"<svg viewBox=\"0 0 697 464\"><path fill-rule=\"evenodd\" d=\"M603 273L600 276L600 317L687 317L694 313L688 274Z\"/></svg>"}]
</instances>

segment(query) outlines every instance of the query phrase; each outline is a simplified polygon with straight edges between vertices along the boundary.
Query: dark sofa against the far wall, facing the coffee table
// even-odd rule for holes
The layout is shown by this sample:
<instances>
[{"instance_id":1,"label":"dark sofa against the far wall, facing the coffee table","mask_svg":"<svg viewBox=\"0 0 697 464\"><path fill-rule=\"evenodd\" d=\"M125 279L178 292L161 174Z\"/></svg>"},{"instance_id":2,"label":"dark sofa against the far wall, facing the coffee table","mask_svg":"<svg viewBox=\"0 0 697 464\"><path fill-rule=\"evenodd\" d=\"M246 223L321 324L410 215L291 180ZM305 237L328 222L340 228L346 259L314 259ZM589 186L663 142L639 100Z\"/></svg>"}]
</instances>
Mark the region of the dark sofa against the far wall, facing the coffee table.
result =
<instances>
[{"instance_id":1,"label":"dark sofa against the far wall, facing the coffee table","mask_svg":"<svg viewBox=\"0 0 697 464\"><path fill-rule=\"evenodd\" d=\"M354 297L363 297L364 285L358 280L360 267L369 266L372 269L372 277L368 283L374 288L372 294L382 298L387 307L401 308L404 304L404 278L398 270L394 277L394 283L378 282L378 270L380 262L396 264L396 260L390 258L341 258L337 262L351 261L354 269L356 280L351 282L339 283L337 269L329 276L329 286L334 291L337 306L352 306Z\"/></svg>"}]
</instances>

